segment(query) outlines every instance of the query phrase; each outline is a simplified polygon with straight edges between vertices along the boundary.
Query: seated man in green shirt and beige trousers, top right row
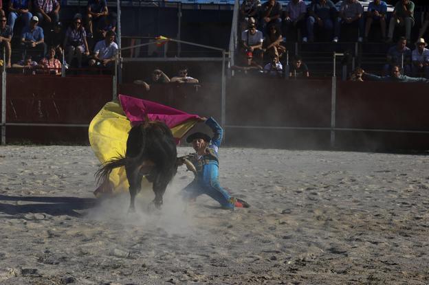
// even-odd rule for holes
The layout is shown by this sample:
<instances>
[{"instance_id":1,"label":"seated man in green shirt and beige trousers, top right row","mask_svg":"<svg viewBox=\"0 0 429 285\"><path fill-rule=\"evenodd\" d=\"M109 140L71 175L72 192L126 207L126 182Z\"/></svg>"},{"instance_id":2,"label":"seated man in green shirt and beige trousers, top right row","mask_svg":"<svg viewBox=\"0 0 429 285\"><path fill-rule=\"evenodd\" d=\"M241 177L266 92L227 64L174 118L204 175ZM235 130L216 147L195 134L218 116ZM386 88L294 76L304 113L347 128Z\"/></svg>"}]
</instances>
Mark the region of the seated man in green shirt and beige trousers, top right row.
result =
<instances>
[{"instance_id":1,"label":"seated man in green shirt and beige trousers, top right row","mask_svg":"<svg viewBox=\"0 0 429 285\"><path fill-rule=\"evenodd\" d=\"M411 28L414 26L414 3L410 0L400 0L396 3L393 9L391 22L387 34L388 43L392 42L393 31L397 26L405 26L405 37L407 41L411 38Z\"/></svg>"}]
</instances>

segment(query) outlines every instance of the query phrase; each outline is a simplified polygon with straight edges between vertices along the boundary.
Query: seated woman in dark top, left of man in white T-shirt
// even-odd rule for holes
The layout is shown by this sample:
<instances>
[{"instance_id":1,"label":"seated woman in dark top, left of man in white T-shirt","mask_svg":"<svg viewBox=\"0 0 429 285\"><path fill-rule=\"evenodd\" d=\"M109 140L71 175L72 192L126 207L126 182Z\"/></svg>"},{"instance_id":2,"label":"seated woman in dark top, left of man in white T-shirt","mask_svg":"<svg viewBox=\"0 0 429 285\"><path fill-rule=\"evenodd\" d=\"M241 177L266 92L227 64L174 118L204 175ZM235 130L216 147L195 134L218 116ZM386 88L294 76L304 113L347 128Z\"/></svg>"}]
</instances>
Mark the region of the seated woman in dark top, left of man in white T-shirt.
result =
<instances>
[{"instance_id":1,"label":"seated woman in dark top, left of man in white T-shirt","mask_svg":"<svg viewBox=\"0 0 429 285\"><path fill-rule=\"evenodd\" d=\"M63 47L67 54L67 62L69 65L72 64L73 58L77 58L78 67L82 67L82 56L84 54L86 56L89 55L89 48L87 33L82 26L82 19L80 19L80 16L74 17L73 25L65 32Z\"/></svg>"}]
</instances>

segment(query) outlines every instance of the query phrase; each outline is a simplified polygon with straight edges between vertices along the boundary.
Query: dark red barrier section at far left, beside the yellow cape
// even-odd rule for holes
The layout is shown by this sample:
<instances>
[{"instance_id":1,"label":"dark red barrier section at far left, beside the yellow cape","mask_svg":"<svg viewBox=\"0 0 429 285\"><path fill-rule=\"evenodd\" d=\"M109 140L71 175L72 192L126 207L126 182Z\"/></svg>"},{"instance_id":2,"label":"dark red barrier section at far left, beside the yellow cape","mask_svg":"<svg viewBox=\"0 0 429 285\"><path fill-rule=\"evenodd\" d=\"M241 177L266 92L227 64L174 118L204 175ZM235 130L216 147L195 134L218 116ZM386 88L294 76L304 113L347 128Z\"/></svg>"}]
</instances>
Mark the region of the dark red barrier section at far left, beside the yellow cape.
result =
<instances>
[{"instance_id":1,"label":"dark red barrier section at far left, beside the yellow cape","mask_svg":"<svg viewBox=\"0 0 429 285\"><path fill-rule=\"evenodd\" d=\"M6 123L89 124L111 101L111 76L23 76L8 74ZM87 127L7 126L6 141L88 141Z\"/></svg>"}]
</instances>

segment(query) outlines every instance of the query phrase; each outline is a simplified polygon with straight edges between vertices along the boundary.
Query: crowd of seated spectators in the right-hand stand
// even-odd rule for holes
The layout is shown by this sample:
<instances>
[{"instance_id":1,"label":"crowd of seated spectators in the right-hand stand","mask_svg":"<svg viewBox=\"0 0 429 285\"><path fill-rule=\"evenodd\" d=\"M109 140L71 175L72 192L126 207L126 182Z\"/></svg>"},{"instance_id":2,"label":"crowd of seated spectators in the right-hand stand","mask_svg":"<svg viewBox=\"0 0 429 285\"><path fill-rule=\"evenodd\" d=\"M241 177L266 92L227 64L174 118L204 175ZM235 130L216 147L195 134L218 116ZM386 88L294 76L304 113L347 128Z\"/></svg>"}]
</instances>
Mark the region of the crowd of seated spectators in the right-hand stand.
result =
<instances>
[{"instance_id":1,"label":"crowd of seated spectators in the right-hand stand","mask_svg":"<svg viewBox=\"0 0 429 285\"><path fill-rule=\"evenodd\" d=\"M393 12L388 13L388 4L393 5ZM416 23L415 3L411 0L373 0L365 10L358 0L344 0L338 5L333 0L312 0L308 4L303 0L290 0L283 8L277 0L265 3L243 0L239 64L232 69L244 73L265 71L274 76L278 71L273 69L285 70L288 42L377 41L392 43L386 64L380 67L383 76L399 66L402 75L429 78L429 49L424 39L429 27L429 3L423 3L421 8L428 12L422 16L421 26L416 27L417 41L411 41L412 27ZM378 31L373 29L376 25L380 27ZM399 41L393 45L396 38ZM288 65L287 75L309 77L309 69L300 56Z\"/></svg>"}]
</instances>

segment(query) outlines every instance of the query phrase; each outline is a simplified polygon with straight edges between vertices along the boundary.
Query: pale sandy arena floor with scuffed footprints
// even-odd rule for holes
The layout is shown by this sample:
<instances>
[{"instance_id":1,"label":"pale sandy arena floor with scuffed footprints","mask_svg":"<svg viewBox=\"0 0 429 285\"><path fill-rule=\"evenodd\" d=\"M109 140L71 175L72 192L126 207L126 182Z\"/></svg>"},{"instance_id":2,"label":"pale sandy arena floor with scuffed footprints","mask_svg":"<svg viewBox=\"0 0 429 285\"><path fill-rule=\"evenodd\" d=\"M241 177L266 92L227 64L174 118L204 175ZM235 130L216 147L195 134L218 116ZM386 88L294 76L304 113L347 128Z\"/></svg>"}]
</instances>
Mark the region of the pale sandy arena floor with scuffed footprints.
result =
<instances>
[{"instance_id":1,"label":"pale sandy arena floor with scuffed footprints","mask_svg":"<svg viewBox=\"0 0 429 285\"><path fill-rule=\"evenodd\" d=\"M179 148L179 154L190 152ZM221 148L221 184L184 211L96 201L87 146L0 147L0 284L429 284L429 157Z\"/></svg>"}]
</instances>

